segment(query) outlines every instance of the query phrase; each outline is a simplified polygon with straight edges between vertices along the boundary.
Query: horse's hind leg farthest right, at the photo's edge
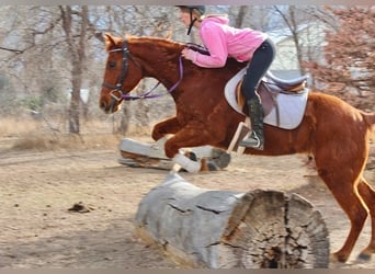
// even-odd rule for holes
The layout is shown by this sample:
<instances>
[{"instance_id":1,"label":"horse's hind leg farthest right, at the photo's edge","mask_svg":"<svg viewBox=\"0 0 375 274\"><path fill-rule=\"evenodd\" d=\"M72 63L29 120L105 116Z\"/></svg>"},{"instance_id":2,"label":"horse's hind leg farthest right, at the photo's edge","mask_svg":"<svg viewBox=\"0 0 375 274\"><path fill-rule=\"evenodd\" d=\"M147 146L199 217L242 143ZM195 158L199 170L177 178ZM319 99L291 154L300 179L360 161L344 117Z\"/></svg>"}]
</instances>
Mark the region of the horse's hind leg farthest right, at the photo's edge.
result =
<instances>
[{"instance_id":1,"label":"horse's hind leg farthest right, at the photo's edge","mask_svg":"<svg viewBox=\"0 0 375 274\"><path fill-rule=\"evenodd\" d=\"M357 190L370 210L372 227L370 244L361 252L359 259L370 260L371 255L375 253L375 190L364 178L361 179Z\"/></svg>"}]
</instances>

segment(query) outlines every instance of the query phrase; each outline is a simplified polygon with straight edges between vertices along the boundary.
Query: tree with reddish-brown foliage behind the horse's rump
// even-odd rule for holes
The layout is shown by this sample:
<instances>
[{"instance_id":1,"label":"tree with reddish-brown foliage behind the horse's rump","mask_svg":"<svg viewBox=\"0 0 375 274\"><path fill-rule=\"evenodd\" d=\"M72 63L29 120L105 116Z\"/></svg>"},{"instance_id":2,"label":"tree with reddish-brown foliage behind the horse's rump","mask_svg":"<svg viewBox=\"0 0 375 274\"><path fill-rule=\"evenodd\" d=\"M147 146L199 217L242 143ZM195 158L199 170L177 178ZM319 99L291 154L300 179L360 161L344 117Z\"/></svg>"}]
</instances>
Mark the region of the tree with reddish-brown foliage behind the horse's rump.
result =
<instances>
[{"instance_id":1,"label":"tree with reddish-brown foliage behind the horse's rump","mask_svg":"<svg viewBox=\"0 0 375 274\"><path fill-rule=\"evenodd\" d=\"M323 61L304 64L317 88L363 110L375 110L375 9L330 8L337 18L326 34Z\"/></svg>"}]
</instances>

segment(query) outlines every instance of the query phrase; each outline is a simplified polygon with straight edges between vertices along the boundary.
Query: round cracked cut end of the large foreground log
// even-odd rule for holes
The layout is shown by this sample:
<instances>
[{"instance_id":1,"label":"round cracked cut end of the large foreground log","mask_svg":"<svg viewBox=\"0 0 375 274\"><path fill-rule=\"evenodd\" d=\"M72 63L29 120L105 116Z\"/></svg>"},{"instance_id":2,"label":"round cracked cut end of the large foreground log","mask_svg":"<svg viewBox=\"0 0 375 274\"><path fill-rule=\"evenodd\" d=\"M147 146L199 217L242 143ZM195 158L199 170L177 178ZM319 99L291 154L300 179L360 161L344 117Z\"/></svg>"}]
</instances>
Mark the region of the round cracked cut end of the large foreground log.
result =
<instances>
[{"instance_id":1,"label":"round cracked cut end of the large foreground log","mask_svg":"<svg viewBox=\"0 0 375 274\"><path fill-rule=\"evenodd\" d=\"M300 196L247 193L223 236L231 266L247 269L328 267L328 231L319 212ZM227 264L227 263L226 263Z\"/></svg>"}]
</instances>

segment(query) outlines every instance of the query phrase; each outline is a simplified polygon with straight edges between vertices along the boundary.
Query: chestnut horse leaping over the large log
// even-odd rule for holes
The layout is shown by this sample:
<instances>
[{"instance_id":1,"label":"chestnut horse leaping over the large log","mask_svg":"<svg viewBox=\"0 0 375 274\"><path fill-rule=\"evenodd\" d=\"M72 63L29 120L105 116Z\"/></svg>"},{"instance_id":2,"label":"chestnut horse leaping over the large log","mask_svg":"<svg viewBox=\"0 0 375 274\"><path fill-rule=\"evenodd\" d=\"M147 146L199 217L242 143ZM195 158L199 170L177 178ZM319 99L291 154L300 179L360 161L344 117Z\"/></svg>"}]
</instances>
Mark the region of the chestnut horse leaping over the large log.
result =
<instances>
[{"instance_id":1,"label":"chestnut horse leaping over the large log","mask_svg":"<svg viewBox=\"0 0 375 274\"><path fill-rule=\"evenodd\" d=\"M225 68L200 68L180 59L185 47L182 43L155 37L123 39L110 34L104 37L109 57L99 104L105 113L116 112L124 100L132 99L128 93L139 81L151 77L168 89L175 103L175 116L158 123L152 130L155 140L172 135L164 144L168 157L175 159L180 148L228 148L245 117L229 106L223 91L245 64L228 59ZM375 113L356 110L336 96L310 92L297 128L264 125L264 150L245 150L263 156L314 155L319 176L351 221L349 236L332 254L333 261L348 260L368 215L371 241L360 258L370 260L375 252L375 191L363 178L374 124Z\"/></svg>"}]
</instances>

